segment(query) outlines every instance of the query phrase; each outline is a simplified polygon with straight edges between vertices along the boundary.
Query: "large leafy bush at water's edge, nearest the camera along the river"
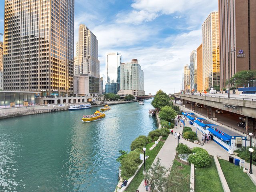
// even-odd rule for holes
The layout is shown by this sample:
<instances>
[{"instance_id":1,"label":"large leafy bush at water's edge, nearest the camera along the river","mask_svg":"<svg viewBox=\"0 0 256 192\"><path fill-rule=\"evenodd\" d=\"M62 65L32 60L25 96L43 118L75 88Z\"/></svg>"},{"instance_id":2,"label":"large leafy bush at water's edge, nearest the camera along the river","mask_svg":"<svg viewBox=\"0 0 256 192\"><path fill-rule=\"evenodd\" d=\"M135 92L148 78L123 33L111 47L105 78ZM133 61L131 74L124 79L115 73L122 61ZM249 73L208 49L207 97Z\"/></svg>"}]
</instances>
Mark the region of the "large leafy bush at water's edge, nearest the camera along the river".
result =
<instances>
[{"instance_id":1,"label":"large leafy bush at water's edge, nearest the camera along the river","mask_svg":"<svg viewBox=\"0 0 256 192\"><path fill-rule=\"evenodd\" d=\"M121 160L122 178L130 178L133 176L141 162L139 152L131 151L128 153L127 156Z\"/></svg>"}]
</instances>

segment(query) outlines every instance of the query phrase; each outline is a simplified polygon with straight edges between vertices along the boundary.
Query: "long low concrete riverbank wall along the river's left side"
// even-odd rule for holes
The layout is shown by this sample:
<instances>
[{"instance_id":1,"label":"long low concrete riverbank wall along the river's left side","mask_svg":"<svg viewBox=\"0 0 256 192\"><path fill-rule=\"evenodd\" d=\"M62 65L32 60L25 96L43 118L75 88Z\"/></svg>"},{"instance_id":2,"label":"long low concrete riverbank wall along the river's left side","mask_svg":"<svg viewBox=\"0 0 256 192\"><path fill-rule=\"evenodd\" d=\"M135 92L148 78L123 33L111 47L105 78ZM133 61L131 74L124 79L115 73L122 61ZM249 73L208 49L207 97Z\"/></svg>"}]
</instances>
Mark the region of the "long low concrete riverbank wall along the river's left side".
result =
<instances>
[{"instance_id":1,"label":"long low concrete riverbank wall along the river's left side","mask_svg":"<svg viewBox=\"0 0 256 192\"><path fill-rule=\"evenodd\" d=\"M92 107L99 107L115 104L125 104L134 101L106 101L103 104L92 104ZM12 108L2 108L0 109L0 119L12 118L24 115L32 115L39 113L48 113L48 112L57 112L68 110L70 105L74 104L88 104L88 102L84 103L69 103L69 104L47 104L47 105L31 105L31 106L21 106L21 107L12 107Z\"/></svg>"}]
</instances>

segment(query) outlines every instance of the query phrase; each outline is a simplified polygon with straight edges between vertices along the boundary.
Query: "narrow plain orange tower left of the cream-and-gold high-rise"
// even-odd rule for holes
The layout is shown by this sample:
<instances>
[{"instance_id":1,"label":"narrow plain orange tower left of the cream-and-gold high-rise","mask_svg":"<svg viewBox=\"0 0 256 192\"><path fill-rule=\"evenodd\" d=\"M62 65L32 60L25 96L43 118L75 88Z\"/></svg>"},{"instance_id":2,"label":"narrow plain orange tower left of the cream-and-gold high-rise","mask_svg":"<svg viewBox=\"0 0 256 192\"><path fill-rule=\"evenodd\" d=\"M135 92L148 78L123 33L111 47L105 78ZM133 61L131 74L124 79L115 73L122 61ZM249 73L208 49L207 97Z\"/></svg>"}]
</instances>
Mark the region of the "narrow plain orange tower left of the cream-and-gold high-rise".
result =
<instances>
[{"instance_id":1,"label":"narrow plain orange tower left of the cream-and-gold high-rise","mask_svg":"<svg viewBox=\"0 0 256 192\"><path fill-rule=\"evenodd\" d=\"M196 49L197 53L197 91L203 92L203 50L202 44Z\"/></svg>"}]
</instances>

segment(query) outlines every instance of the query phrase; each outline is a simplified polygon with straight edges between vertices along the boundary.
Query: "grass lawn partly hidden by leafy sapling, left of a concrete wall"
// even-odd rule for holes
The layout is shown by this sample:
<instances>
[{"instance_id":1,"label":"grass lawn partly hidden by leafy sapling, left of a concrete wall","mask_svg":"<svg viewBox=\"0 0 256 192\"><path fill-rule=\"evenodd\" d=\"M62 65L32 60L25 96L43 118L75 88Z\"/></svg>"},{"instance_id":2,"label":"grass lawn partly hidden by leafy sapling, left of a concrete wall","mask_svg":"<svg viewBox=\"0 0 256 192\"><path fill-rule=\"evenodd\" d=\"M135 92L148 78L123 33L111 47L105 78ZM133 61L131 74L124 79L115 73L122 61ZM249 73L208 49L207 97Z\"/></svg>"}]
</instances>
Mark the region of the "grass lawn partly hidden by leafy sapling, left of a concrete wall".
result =
<instances>
[{"instance_id":1,"label":"grass lawn partly hidden by leafy sapling, left of a concrete wall","mask_svg":"<svg viewBox=\"0 0 256 192\"><path fill-rule=\"evenodd\" d=\"M190 165L184 164L184 162L182 162L182 168L180 168L181 163L178 162L176 159L173 161L172 164L172 168L178 167L178 170L182 173L182 174L188 174L188 181L186 183L183 183L182 188L179 189L180 192L186 191L189 192L190 191ZM170 172L170 178L173 177L173 173L172 171Z\"/></svg>"}]
</instances>

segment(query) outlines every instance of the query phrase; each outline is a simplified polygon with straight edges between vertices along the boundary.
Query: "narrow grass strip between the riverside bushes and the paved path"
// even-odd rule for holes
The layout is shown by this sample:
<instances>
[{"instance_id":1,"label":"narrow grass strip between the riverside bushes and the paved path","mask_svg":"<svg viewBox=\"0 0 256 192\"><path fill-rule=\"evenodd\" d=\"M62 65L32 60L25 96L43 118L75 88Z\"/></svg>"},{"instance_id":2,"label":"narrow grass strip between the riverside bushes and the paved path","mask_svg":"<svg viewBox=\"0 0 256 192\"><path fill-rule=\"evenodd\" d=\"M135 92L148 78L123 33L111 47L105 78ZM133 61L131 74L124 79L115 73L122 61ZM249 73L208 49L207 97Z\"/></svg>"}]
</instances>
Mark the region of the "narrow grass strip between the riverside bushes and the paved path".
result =
<instances>
[{"instance_id":1,"label":"narrow grass strip between the riverside bushes and the paved path","mask_svg":"<svg viewBox=\"0 0 256 192\"><path fill-rule=\"evenodd\" d=\"M152 147L153 144L155 144L155 142L151 142L146 145L146 149L147 149L146 155L149 156L149 158L146 160L146 170L148 170L152 165L152 163L154 162L156 155L164 145L164 142L160 141L158 143L159 147L156 146L153 150L150 151L149 148ZM144 179L144 175L142 174L143 169L144 169L144 166L142 165L142 167L140 168L136 176L133 178L130 185L125 190L126 192L135 192L138 189L138 187L140 186L140 183Z\"/></svg>"}]
</instances>

